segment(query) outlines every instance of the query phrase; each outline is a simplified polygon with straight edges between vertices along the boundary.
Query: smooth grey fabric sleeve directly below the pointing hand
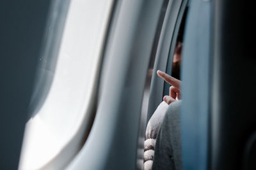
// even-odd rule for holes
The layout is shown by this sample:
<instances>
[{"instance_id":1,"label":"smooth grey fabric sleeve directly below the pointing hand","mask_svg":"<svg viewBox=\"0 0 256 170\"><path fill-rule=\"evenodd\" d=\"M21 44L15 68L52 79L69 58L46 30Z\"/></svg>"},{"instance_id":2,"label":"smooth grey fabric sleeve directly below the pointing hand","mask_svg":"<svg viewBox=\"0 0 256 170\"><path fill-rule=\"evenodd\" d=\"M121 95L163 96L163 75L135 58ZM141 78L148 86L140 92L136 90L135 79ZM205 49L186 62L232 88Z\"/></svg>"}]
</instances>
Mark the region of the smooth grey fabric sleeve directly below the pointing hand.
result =
<instances>
[{"instance_id":1,"label":"smooth grey fabric sleeve directly below the pointing hand","mask_svg":"<svg viewBox=\"0 0 256 170\"><path fill-rule=\"evenodd\" d=\"M182 169L180 143L180 103L169 105L157 135L152 169Z\"/></svg>"}]
</instances>

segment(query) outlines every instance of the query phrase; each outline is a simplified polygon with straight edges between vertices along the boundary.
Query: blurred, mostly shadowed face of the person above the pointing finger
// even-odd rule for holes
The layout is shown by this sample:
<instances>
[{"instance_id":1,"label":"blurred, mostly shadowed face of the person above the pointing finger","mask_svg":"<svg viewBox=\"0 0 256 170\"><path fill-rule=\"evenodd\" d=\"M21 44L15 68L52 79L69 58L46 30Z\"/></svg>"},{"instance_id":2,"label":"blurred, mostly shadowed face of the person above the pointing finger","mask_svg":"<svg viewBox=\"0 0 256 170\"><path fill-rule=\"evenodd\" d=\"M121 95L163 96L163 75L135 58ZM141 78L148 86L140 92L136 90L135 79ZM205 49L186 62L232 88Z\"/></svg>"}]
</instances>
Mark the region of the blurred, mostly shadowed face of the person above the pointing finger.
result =
<instances>
[{"instance_id":1,"label":"blurred, mostly shadowed face of the person above the pointing finger","mask_svg":"<svg viewBox=\"0 0 256 170\"><path fill-rule=\"evenodd\" d=\"M172 76L180 80L180 62L181 62L182 43L178 42L175 46L172 62Z\"/></svg>"}]
</instances>

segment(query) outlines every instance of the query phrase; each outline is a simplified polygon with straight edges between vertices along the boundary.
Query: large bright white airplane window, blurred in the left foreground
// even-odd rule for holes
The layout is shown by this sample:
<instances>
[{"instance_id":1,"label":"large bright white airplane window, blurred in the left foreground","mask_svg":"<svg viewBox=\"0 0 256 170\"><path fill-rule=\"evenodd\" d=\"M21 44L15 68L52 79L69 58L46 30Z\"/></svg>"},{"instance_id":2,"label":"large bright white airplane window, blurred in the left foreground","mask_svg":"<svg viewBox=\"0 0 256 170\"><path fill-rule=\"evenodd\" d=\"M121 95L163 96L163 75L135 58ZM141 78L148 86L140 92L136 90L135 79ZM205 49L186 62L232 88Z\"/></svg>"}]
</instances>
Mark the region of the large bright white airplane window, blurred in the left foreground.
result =
<instances>
[{"instance_id":1,"label":"large bright white airplane window, blurred in the left foreground","mask_svg":"<svg viewBox=\"0 0 256 170\"><path fill-rule=\"evenodd\" d=\"M56 4L63 2L52 2L55 6L49 20L54 22L54 17L61 15L58 13L60 6ZM36 93L39 96L33 96L37 102L31 102L33 117L26 124L19 169L47 169L83 129L86 114L92 105L112 6L113 0L70 1L60 48L55 49L57 53L43 52L47 56L38 58L44 62L38 65L39 74L43 76L36 79L35 85L44 84L47 88L42 91L41 87L35 87L35 93L36 89L40 92ZM49 35L51 37L45 41L58 43L56 34ZM46 80L47 83L44 82ZM80 147L82 141L83 137L74 148ZM65 160L56 162L67 164L76 152L77 149L68 150ZM63 165L54 164L53 167Z\"/></svg>"}]
</instances>

